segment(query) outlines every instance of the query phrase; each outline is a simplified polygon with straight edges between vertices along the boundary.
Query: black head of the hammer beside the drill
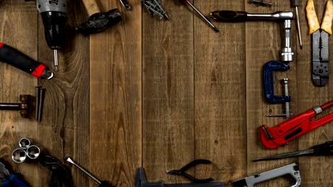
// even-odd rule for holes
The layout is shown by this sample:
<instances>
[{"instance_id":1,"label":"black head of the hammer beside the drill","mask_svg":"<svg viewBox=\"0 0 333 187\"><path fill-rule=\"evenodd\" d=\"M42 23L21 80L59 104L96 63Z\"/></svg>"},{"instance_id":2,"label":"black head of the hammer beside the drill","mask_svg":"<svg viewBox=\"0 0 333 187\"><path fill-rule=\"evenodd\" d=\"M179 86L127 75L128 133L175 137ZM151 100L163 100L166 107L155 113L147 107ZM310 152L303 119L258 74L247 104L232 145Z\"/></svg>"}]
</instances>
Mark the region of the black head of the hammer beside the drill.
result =
<instances>
[{"instance_id":1,"label":"black head of the hammer beside the drill","mask_svg":"<svg viewBox=\"0 0 333 187\"><path fill-rule=\"evenodd\" d=\"M76 30L85 35L101 33L120 21L122 21L122 14L115 8L107 12L93 14L88 18L88 21L81 23Z\"/></svg>"}]
</instances>

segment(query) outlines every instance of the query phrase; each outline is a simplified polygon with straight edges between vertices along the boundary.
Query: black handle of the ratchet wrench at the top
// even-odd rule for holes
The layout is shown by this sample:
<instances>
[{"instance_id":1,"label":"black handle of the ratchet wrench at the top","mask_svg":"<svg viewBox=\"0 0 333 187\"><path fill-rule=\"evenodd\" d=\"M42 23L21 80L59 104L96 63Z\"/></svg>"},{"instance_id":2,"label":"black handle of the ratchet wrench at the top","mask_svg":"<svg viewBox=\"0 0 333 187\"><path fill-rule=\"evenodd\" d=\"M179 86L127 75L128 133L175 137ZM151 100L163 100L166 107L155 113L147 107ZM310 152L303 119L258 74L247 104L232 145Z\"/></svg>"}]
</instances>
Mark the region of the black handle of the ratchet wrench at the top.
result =
<instances>
[{"instance_id":1,"label":"black handle of the ratchet wrench at the top","mask_svg":"<svg viewBox=\"0 0 333 187\"><path fill-rule=\"evenodd\" d=\"M236 23L247 21L248 13L245 11L213 11L209 17L216 21Z\"/></svg>"}]
</instances>

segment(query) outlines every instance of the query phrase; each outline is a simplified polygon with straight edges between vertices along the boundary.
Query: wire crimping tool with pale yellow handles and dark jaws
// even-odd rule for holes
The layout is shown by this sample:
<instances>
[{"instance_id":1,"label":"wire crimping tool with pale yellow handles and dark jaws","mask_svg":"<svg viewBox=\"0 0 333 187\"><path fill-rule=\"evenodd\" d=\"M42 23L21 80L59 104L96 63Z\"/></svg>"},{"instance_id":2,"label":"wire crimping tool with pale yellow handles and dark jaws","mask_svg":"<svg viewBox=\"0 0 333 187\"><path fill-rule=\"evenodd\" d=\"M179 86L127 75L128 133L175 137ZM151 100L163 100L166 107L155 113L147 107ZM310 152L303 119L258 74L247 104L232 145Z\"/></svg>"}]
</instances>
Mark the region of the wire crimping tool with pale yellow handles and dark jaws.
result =
<instances>
[{"instance_id":1,"label":"wire crimping tool with pale yellow handles and dark jaws","mask_svg":"<svg viewBox=\"0 0 333 187\"><path fill-rule=\"evenodd\" d=\"M322 26L319 26L313 0L307 1L307 21L312 35L312 81L325 86L329 79L329 35L332 35L333 1L328 0Z\"/></svg>"}]
</instances>

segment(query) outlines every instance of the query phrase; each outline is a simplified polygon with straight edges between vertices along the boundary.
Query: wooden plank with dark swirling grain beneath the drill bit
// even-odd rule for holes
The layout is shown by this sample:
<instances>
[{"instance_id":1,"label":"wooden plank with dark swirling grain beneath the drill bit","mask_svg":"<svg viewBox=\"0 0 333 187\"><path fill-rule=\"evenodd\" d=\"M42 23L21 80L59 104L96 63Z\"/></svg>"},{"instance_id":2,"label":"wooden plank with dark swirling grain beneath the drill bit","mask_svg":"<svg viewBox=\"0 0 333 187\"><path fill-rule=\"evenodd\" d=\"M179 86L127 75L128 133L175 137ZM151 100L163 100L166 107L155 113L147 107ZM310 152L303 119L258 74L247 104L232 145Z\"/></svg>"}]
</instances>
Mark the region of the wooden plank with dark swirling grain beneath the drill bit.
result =
<instances>
[{"instance_id":1,"label":"wooden plank with dark swirling grain beneath the drill bit","mask_svg":"<svg viewBox=\"0 0 333 187\"><path fill-rule=\"evenodd\" d=\"M73 30L86 20L85 8L81 1L68 1L67 8L65 45L58 51L59 71L53 79L39 82L46 88L46 95L36 141L60 161L68 155L89 166L89 38ZM46 45L39 13L38 19L38 60L54 72L53 50ZM85 186L90 181L78 169L70 168L75 186ZM49 171L43 166L38 169L36 186L45 186Z\"/></svg>"}]
</instances>

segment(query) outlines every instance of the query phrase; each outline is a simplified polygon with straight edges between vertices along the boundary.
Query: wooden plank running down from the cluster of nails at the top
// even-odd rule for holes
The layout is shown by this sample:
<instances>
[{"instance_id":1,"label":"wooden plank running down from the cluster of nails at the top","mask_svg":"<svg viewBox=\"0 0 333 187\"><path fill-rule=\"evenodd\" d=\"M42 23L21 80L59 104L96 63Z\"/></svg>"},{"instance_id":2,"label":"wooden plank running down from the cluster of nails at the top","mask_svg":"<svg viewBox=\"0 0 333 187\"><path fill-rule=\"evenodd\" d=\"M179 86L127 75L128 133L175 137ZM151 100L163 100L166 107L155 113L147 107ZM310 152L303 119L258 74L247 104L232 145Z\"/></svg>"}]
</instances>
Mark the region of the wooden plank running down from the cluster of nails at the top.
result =
<instances>
[{"instance_id":1,"label":"wooden plank running down from the cluster of nails at the top","mask_svg":"<svg viewBox=\"0 0 333 187\"><path fill-rule=\"evenodd\" d=\"M142 164L148 181L186 182L165 171L194 159L193 14L174 1L162 4L171 21L142 13Z\"/></svg>"}]
</instances>

